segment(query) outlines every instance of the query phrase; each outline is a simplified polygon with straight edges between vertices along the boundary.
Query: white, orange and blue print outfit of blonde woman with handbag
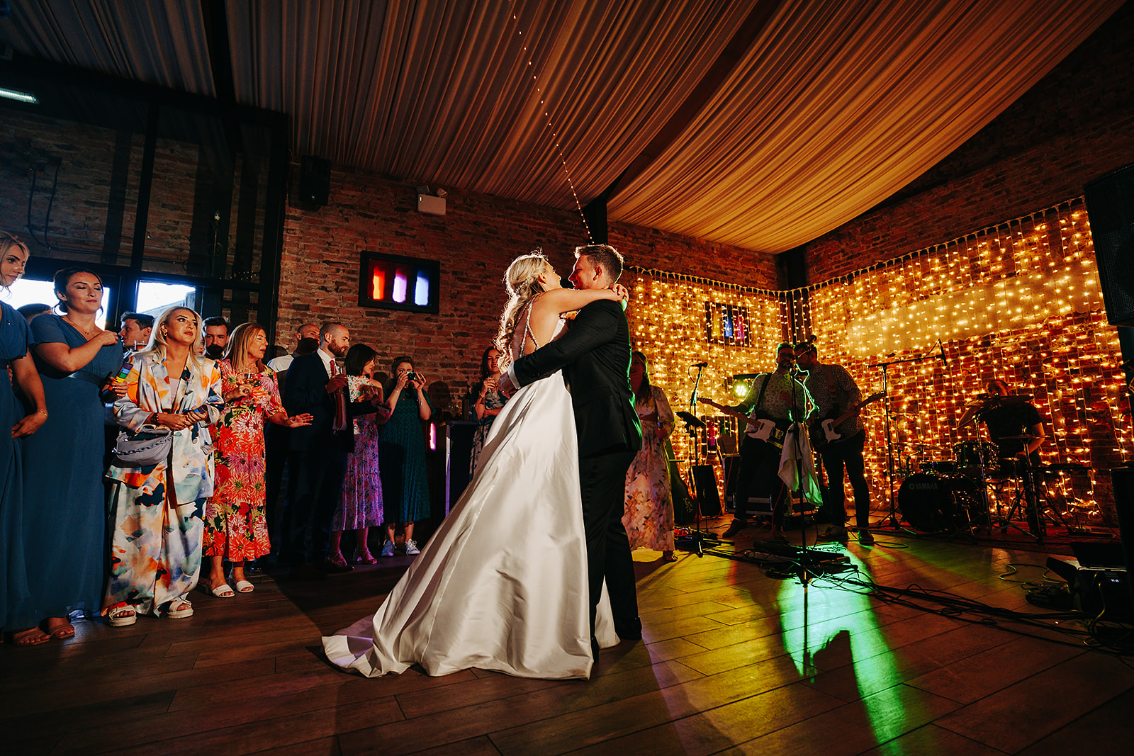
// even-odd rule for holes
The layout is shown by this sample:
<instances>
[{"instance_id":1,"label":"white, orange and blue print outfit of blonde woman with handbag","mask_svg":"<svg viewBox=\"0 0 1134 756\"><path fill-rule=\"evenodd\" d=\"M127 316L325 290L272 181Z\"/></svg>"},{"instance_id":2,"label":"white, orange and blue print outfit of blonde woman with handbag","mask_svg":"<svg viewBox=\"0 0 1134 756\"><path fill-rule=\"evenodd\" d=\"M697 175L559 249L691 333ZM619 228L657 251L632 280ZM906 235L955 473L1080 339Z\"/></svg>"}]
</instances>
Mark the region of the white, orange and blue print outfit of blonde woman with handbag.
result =
<instances>
[{"instance_id":1,"label":"white, orange and blue print outfit of blonde woman with handbag","mask_svg":"<svg viewBox=\"0 0 1134 756\"><path fill-rule=\"evenodd\" d=\"M171 460L144 467L111 465L115 525L110 580L103 606L130 604L138 614L163 614L201 577L202 516L213 492L213 452L209 424L220 418L225 399L220 369L211 359L188 360L180 381L170 383L154 354L134 357L127 394L115 402L115 419L138 431L153 413L204 408L209 418L174 432Z\"/></svg>"}]
</instances>

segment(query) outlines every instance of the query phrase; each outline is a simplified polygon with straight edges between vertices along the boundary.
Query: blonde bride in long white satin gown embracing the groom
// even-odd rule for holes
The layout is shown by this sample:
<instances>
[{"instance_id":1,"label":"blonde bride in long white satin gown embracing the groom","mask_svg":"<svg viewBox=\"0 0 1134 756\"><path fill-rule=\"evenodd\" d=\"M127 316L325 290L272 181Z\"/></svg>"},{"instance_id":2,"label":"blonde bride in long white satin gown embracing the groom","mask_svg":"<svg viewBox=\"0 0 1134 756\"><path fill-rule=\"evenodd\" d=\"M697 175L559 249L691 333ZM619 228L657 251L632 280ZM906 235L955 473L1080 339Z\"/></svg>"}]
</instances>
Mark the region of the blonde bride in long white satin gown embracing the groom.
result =
<instances>
[{"instance_id":1,"label":"blonde bride in long white satin gown embracing the groom","mask_svg":"<svg viewBox=\"0 0 1134 756\"><path fill-rule=\"evenodd\" d=\"M564 315L626 289L564 289L540 254L505 275L497 346L511 359L566 330ZM503 366L501 366L503 369ZM517 391L497 416L465 493L378 612L323 638L327 657L366 677L417 663L523 678L589 678L590 597L570 394L560 373ZM618 643L610 604L595 636Z\"/></svg>"}]
</instances>

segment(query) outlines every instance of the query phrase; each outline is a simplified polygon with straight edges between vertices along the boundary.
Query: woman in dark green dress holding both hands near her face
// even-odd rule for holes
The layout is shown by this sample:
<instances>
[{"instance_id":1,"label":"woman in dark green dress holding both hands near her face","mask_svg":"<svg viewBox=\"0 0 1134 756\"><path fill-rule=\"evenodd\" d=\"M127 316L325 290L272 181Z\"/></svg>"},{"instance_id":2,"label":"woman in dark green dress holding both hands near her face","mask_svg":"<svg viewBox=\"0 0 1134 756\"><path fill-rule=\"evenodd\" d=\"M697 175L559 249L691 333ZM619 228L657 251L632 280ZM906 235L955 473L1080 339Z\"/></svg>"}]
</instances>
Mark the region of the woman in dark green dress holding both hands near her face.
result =
<instances>
[{"instance_id":1,"label":"woman in dark green dress holding both hands near her face","mask_svg":"<svg viewBox=\"0 0 1134 756\"><path fill-rule=\"evenodd\" d=\"M425 435L422 423L433 415L425 393L425 379L417 373L412 357L390 363L393 377L387 383L386 406L390 419L382 428L379 451L382 456L382 500L386 508L386 543L382 557L393 555L393 534L398 523L406 534L406 553L420 553L414 541L414 521L429 517L429 481L425 478ZM403 393L411 394L403 398Z\"/></svg>"}]
</instances>

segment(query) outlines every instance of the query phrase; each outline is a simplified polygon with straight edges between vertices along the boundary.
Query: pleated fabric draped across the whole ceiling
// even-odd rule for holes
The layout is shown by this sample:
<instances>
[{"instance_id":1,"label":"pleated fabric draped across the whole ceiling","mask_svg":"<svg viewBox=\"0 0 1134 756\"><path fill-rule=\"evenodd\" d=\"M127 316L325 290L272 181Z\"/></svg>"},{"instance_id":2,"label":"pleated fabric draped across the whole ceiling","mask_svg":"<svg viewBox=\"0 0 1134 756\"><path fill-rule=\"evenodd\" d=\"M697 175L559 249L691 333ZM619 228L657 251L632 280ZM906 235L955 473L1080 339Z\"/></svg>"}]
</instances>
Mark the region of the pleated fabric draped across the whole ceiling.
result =
<instances>
[{"instance_id":1,"label":"pleated fabric draped across the whole ceiling","mask_svg":"<svg viewBox=\"0 0 1134 756\"><path fill-rule=\"evenodd\" d=\"M1122 3L226 0L223 8L237 101L288 113L296 159L314 154L562 209L575 207L569 176L584 205L616 186L611 220L775 253L924 172ZM203 5L14 2L0 41L22 54L214 95ZM737 29L761 12L763 26L737 50ZM713 78L721 62L731 68ZM657 154L643 163L659 134L661 148L652 145Z\"/></svg>"}]
</instances>

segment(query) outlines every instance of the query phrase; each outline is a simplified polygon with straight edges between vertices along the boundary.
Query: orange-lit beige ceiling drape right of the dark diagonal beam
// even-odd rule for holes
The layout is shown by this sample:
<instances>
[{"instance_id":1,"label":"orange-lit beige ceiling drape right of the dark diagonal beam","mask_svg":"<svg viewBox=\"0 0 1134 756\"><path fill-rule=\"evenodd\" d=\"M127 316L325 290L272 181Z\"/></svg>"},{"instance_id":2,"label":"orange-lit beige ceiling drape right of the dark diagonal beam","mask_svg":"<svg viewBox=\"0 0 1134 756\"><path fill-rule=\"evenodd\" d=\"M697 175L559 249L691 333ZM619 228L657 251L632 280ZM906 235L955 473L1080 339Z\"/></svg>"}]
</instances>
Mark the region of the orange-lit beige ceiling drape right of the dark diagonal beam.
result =
<instances>
[{"instance_id":1,"label":"orange-lit beige ceiling drape right of the dark diagonal beam","mask_svg":"<svg viewBox=\"0 0 1134 756\"><path fill-rule=\"evenodd\" d=\"M1122 2L785 0L610 218L782 252L897 192Z\"/></svg>"}]
</instances>

